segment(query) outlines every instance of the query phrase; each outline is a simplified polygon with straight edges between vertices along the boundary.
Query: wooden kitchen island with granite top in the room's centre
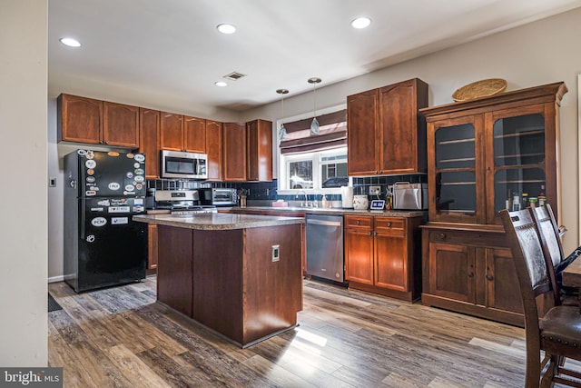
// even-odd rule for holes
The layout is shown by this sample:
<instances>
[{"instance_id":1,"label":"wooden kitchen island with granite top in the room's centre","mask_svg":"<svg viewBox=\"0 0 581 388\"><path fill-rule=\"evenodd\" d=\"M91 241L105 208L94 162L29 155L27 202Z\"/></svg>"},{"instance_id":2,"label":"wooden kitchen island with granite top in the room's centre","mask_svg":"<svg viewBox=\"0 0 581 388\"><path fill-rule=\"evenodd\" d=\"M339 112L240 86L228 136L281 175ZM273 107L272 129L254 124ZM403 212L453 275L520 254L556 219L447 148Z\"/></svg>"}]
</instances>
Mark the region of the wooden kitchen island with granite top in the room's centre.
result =
<instances>
[{"instance_id":1,"label":"wooden kitchen island with granite top in the room's centre","mask_svg":"<svg viewBox=\"0 0 581 388\"><path fill-rule=\"evenodd\" d=\"M157 300L245 348L296 326L301 218L143 214L158 225Z\"/></svg>"}]
</instances>

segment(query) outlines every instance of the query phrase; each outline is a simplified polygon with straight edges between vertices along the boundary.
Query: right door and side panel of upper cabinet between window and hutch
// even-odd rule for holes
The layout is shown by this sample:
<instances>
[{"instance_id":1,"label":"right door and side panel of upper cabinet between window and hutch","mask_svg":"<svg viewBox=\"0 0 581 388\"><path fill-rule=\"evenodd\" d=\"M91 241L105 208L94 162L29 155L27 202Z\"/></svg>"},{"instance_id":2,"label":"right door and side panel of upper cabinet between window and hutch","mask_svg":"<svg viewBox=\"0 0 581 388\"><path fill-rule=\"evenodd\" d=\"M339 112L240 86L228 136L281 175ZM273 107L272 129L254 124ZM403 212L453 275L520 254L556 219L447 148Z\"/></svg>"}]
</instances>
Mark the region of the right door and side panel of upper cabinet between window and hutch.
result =
<instances>
[{"instance_id":1,"label":"right door and side panel of upper cabinet between window and hutch","mask_svg":"<svg viewBox=\"0 0 581 388\"><path fill-rule=\"evenodd\" d=\"M428 106L428 84L419 79L379 89L379 174L426 172L426 124L418 109Z\"/></svg>"}]
</instances>

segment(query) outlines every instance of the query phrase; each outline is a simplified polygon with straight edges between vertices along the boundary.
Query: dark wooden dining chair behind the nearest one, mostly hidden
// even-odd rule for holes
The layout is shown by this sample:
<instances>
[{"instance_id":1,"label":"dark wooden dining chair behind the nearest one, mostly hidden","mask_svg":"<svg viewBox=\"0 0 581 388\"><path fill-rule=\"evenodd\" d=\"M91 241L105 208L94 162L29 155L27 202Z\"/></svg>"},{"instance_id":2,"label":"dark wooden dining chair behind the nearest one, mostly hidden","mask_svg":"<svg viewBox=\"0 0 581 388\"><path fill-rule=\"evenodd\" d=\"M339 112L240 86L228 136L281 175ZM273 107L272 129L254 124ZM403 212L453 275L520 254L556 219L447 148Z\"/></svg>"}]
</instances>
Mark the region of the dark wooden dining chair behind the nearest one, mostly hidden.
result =
<instances>
[{"instance_id":1,"label":"dark wooden dining chair behind the nearest one, mostly hidden","mask_svg":"<svg viewBox=\"0 0 581 388\"><path fill-rule=\"evenodd\" d=\"M579 290L576 287L564 287L561 284L561 272L581 254L581 250L576 249L568 256L563 254L559 228L550 204L529 209L535 218L543 252L548 260L549 275L554 275L551 277L555 278L555 286L559 290L561 303L578 303Z\"/></svg>"}]
</instances>

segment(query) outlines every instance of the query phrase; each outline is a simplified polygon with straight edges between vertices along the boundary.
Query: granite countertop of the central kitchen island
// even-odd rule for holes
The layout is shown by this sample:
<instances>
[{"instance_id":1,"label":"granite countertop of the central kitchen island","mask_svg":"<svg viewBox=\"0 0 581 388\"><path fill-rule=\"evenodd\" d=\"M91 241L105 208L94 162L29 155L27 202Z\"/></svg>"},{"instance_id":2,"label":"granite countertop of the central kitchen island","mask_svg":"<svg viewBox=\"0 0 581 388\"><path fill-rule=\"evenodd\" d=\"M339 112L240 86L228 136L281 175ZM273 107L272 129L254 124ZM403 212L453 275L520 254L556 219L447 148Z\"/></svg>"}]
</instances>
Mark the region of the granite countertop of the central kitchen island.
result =
<instances>
[{"instance_id":1,"label":"granite countertop of the central kitchen island","mask_svg":"<svg viewBox=\"0 0 581 388\"><path fill-rule=\"evenodd\" d=\"M277 217L271 215L212 213L212 214L140 214L133 220L179 228L198 230L231 230L303 224L304 219L297 217Z\"/></svg>"}]
</instances>

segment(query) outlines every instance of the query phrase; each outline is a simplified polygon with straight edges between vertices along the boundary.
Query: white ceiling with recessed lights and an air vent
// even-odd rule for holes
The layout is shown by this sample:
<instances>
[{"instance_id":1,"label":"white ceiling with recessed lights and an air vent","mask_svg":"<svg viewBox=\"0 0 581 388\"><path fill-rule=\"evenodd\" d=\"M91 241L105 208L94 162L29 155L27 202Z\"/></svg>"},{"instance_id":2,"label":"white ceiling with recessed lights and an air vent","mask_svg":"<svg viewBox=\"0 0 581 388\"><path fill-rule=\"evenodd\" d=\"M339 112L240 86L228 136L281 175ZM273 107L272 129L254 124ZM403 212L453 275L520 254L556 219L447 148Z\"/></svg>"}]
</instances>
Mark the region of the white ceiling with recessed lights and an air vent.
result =
<instances>
[{"instance_id":1,"label":"white ceiling with recessed lights and an air vent","mask_svg":"<svg viewBox=\"0 0 581 388\"><path fill-rule=\"evenodd\" d=\"M74 83L242 111L581 6L581 0L49 0L49 94ZM350 21L368 15L356 30ZM236 25L222 35L216 25ZM82 46L65 47L64 36ZM223 75L246 75L216 87Z\"/></svg>"}]
</instances>

